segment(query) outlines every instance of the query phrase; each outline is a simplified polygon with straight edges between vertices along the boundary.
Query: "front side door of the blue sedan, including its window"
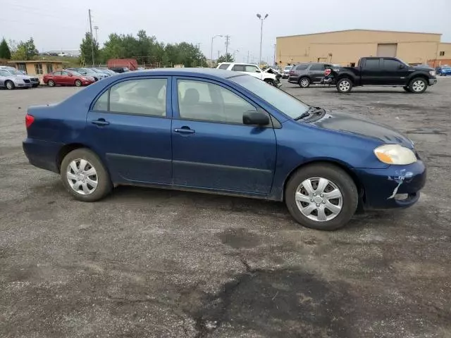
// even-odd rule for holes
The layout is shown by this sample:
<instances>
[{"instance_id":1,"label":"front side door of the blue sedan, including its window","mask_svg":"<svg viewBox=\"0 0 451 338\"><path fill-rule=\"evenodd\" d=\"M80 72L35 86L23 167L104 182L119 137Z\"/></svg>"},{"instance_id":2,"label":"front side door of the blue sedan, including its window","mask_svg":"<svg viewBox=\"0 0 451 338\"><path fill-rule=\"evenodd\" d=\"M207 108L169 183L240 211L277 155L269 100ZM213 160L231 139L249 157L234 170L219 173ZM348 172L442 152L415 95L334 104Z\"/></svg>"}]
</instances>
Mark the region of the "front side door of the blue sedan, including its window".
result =
<instances>
[{"instance_id":1,"label":"front side door of the blue sedan, including its window","mask_svg":"<svg viewBox=\"0 0 451 338\"><path fill-rule=\"evenodd\" d=\"M268 194L276 166L273 127L244 125L257 106L218 82L173 80L173 183Z\"/></svg>"}]
</instances>

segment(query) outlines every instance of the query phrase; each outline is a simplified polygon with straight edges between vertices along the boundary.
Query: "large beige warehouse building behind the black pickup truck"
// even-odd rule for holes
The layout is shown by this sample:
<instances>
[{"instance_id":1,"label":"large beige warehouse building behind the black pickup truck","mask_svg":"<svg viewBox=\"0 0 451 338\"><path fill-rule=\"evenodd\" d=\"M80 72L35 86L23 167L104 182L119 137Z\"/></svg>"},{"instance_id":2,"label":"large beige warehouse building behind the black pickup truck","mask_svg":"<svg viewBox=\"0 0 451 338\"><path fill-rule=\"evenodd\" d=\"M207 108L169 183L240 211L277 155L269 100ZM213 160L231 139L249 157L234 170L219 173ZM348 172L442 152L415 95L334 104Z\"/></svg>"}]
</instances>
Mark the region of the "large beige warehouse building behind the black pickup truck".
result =
<instances>
[{"instance_id":1,"label":"large beige warehouse building behind the black pickup truck","mask_svg":"<svg viewBox=\"0 0 451 338\"><path fill-rule=\"evenodd\" d=\"M412 65L451 64L451 43L441 34L383 30L341 30L277 37L276 61L280 65L300 62L331 62L355 65L362 56L395 56Z\"/></svg>"}]
</instances>

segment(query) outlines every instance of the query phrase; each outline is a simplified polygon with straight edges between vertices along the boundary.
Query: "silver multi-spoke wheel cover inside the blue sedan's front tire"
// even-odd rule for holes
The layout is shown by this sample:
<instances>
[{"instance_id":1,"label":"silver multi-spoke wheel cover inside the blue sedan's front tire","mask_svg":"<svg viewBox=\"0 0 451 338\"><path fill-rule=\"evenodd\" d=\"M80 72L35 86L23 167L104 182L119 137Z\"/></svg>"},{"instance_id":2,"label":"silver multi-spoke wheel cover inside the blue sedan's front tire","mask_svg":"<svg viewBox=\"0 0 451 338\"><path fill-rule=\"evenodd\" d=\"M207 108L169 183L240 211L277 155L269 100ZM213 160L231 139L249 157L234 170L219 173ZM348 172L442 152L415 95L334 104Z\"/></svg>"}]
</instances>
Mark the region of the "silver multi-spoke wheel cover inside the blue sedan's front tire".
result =
<instances>
[{"instance_id":1,"label":"silver multi-spoke wheel cover inside the blue sedan's front tire","mask_svg":"<svg viewBox=\"0 0 451 338\"><path fill-rule=\"evenodd\" d=\"M332 181L310 177L297 187L295 201L302 215L317 222L326 222L340 214L343 196Z\"/></svg>"}]
</instances>

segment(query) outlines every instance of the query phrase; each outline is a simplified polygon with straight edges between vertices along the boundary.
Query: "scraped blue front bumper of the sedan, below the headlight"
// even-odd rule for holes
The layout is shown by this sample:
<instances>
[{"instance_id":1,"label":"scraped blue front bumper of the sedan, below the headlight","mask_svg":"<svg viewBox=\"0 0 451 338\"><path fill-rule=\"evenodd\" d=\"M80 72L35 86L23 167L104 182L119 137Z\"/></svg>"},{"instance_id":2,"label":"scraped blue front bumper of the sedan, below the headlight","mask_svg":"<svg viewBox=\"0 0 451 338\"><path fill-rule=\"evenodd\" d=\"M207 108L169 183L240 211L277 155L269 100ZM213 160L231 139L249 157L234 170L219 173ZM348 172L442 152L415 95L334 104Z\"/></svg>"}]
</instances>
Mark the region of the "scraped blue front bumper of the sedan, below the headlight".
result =
<instances>
[{"instance_id":1,"label":"scraped blue front bumper of the sedan, below the headlight","mask_svg":"<svg viewBox=\"0 0 451 338\"><path fill-rule=\"evenodd\" d=\"M419 200L426 184L423 161L409 165L390 165L385 169L354 169L364 190L366 209L407 208Z\"/></svg>"}]
</instances>

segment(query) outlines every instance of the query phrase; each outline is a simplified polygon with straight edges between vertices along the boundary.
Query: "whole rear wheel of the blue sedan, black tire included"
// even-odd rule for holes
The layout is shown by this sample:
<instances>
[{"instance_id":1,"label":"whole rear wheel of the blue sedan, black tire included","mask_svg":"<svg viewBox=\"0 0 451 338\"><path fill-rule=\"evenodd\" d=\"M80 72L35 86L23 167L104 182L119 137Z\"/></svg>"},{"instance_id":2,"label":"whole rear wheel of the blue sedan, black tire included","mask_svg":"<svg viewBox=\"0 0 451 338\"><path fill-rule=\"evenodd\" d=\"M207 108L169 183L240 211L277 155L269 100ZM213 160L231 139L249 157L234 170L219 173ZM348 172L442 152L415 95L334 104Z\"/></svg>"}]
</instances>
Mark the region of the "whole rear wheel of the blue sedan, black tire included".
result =
<instances>
[{"instance_id":1,"label":"whole rear wheel of the blue sedan, black tire included","mask_svg":"<svg viewBox=\"0 0 451 338\"><path fill-rule=\"evenodd\" d=\"M86 163L84 164L82 161L86 161ZM92 168L95 174L92 173ZM78 170L82 170L81 175ZM85 175L88 171L91 175L89 173ZM89 149L80 148L70 151L61 162L60 173L64 187L79 201L99 201L113 188L110 175L101 163L99 156Z\"/></svg>"}]
</instances>

